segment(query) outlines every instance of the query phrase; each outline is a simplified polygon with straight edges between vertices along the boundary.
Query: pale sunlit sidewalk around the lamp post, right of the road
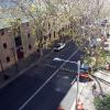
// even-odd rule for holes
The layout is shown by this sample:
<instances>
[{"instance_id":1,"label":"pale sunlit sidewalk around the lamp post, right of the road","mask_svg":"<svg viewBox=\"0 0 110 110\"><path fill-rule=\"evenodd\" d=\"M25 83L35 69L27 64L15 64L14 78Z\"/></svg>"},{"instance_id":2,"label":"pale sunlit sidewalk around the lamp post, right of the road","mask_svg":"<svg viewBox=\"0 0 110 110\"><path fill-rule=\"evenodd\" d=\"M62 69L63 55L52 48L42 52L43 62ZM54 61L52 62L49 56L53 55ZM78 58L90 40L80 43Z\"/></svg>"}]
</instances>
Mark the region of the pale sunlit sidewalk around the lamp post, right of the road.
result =
<instances>
[{"instance_id":1,"label":"pale sunlit sidewalk around the lamp post, right of the road","mask_svg":"<svg viewBox=\"0 0 110 110\"><path fill-rule=\"evenodd\" d=\"M96 74L100 75L100 70L95 73L95 75ZM94 82L97 86L96 94L92 94ZM68 90L67 95L59 103L59 108L62 108L63 110L76 110L76 92L77 92L77 82L75 82L72 86L72 88ZM81 101L84 110L96 110L94 106L94 98L96 97L96 95L100 97L100 95L107 95L107 94L110 94L110 85L107 85L101 80L94 79L92 81L88 81L88 82L79 82L78 99Z\"/></svg>"}]
</instances>

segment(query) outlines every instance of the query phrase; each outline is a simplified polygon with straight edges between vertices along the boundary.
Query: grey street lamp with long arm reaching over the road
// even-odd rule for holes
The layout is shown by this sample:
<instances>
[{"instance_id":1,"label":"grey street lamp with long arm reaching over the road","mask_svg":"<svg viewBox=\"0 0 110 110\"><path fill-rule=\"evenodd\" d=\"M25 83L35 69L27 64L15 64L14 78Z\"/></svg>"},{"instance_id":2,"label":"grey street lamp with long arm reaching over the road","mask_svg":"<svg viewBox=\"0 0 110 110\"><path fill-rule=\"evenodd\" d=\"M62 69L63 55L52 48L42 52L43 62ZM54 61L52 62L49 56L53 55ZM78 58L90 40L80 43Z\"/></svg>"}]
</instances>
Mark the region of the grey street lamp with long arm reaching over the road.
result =
<instances>
[{"instance_id":1,"label":"grey street lamp with long arm reaching over the road","mask_svg":"<svg viewBox=\"0 0 110 110\"><path fill-rule=\"evenodd\" d=\"M65 62L65 63L72 63L72 64L76 64L77 65L77 95L76 95L76 109L77 109L77 102L78 102L78 92L79 92L79 74L80 74L80 61L78 62L70 62L70 61L66 61L66 59L62 59L59 57L55 57L53 61L56 62Z\"/></svg>"}]
</instances>

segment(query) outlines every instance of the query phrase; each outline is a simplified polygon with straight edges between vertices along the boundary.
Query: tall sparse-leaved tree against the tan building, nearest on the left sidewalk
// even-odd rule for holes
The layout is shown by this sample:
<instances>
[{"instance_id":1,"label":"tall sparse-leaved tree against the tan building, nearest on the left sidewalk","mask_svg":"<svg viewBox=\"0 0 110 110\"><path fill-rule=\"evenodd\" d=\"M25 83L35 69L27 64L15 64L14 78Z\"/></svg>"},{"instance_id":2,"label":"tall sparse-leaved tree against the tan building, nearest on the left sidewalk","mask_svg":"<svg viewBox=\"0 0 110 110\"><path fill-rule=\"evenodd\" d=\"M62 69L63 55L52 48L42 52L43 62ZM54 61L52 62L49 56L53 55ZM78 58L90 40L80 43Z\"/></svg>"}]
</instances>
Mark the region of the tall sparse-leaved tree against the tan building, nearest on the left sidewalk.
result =
<instances>
[{"instance_id":1,"label":"tall sparse-leaved tree against the tan building, nearest on the left sidewalk","mask_svg":"<svg viewBox=\"0 0 110 110\"><path fill-rule=\"evenodd\" d=\"M41 3L38 1L33 0L12 0L19 9L21 10L21 13L24 14L24 18L29 19L29 21L33 21L33 24L31 25L32 34L33 36L36 36L35 44L38 42L38 51L40 56L42 56L42 48L43 48L43 38L44 34L43 31L45 30L44 22L46 19L45 11L42 10Z\"/></svg>"}]
</instances>

